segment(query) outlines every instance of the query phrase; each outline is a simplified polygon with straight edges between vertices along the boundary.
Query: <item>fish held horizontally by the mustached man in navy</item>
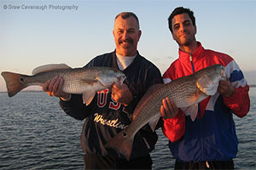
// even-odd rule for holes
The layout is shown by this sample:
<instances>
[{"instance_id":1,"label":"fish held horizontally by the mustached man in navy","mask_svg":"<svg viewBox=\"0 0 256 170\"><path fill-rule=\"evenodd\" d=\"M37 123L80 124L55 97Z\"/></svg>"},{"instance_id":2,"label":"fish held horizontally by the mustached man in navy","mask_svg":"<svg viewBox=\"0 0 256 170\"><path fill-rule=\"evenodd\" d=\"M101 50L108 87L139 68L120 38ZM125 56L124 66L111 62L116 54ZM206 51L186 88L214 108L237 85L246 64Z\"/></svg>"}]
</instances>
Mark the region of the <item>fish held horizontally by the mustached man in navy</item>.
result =
<instances>
[{"instance_id":1,"label":"fish held horizontally by the mustached man in navy","mask_svg":"<svg viewBox=\"0 0 256 170\"><path fill-rule=\"evenodd\" d=\"M43 70L45 66L47 67L47 65L41 66ZM33 76L3 71L2 76L6 81L9 97L19 93L23 88L33 85L42 86L49 79L61 76L64 79L62 91L70 94L84 94L84 104L89 105L97 91L109 88L113 82L123 82L125 79L124 73L108 67L48 69L49 71L36 71Z\"/></svg>"}]
</instances>

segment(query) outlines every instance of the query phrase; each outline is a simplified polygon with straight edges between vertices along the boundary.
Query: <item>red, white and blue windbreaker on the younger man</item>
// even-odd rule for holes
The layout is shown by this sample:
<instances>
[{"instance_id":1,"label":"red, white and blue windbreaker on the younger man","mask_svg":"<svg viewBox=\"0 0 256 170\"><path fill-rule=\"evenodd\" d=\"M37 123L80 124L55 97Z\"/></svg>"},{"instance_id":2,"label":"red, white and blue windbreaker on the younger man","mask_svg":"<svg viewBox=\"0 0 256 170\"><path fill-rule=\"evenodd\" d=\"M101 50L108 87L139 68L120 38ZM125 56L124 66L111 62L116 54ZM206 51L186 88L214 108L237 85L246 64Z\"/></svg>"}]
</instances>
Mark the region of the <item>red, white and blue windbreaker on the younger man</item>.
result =
<instances>
[{"instance_id":1,"label":"red, white and blue windbreaker on the younger man","mask_svg":"<svg viewBox=\"0 0 256 170\"><path fill-rule=\"evenodd\" d=\"M226 77L230 79L235 93L229 97L216 93L201 101L195 122L179 111L172 119L164 120L163 133L177 161L228 161L236 156L238 139L233 114L247 115L250 107L247 81L227 54L199 48L194 54L179 50L175 60L163 75L165 83L178 77L188 76L209 65L224 65Z\"/></svg>"}]
</instances>

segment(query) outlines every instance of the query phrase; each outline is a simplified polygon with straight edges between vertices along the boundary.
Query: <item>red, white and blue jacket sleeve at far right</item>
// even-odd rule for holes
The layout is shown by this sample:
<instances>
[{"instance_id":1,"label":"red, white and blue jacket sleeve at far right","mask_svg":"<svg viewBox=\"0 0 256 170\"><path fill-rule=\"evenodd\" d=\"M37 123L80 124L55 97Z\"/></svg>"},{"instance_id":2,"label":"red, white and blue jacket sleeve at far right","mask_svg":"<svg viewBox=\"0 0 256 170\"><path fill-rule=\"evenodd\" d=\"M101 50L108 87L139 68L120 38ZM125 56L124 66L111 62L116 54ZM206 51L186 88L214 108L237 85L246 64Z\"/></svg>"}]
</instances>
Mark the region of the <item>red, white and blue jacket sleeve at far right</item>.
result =
<instances>
[{"instance_id":1,"label":"red, white and blue jacket sleeve at far right","mask_svg":"<svg viewBox=\"0 0 256 170\"><path fill-rule=\"evenodd\" d=\"M235 93L228 98L223 98L224 105L229 107L236 116L246 116L250 109L247 81L235 60L225 66L225 71L233 88L235 88Z\"/></svg>"}]
</instances>

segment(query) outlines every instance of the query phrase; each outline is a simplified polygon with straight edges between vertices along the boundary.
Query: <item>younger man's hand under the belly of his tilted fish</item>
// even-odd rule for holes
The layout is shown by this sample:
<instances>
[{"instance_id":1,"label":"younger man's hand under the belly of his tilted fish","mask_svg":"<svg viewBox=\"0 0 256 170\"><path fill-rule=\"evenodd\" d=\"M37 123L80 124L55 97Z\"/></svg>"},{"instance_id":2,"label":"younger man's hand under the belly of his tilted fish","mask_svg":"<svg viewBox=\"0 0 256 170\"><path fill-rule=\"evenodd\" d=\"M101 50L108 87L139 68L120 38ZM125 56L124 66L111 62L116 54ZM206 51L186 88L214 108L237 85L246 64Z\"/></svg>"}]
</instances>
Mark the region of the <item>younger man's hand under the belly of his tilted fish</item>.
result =
<instances>
[{"instance_id":1,"label":"younger man's hand under the belly of his tilted fish","mask_svg":"<svg viewBox=\"0 0 256 170\"><path fill-rule=\"evenodd\" d=\"M177 116L178 108L172 100L168 98L162 99L160 113L164 119L170 119L174 116Z\"/></svg>"}]
</instances>

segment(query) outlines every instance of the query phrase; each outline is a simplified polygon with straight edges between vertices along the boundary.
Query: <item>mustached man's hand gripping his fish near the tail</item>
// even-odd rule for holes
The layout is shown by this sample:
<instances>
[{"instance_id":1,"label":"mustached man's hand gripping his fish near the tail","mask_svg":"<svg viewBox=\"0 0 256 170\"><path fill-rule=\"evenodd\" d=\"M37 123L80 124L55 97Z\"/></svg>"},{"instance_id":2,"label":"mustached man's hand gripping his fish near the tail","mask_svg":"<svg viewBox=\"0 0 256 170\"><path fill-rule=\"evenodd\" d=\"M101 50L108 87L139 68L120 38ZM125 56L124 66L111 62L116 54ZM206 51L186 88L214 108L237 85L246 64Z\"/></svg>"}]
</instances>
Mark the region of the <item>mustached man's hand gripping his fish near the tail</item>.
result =
<instances>
[{"instance_id":1,"label":"mustached man's hand gripping his fish near the tail","mask_svg":"<svg viewBox=\"0 0 256 170\"><path fill-rule=\"evenodd\" d=\"M53 77L49 79L49 81L44 82L42 86L44 92L49 94L49 96L61 97L62 99L68 99L69 94L62 92L63 86L63 78L62 77Z\"/></svg>"}]
</instances>

